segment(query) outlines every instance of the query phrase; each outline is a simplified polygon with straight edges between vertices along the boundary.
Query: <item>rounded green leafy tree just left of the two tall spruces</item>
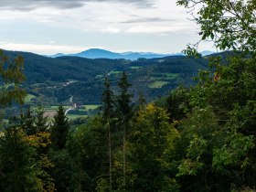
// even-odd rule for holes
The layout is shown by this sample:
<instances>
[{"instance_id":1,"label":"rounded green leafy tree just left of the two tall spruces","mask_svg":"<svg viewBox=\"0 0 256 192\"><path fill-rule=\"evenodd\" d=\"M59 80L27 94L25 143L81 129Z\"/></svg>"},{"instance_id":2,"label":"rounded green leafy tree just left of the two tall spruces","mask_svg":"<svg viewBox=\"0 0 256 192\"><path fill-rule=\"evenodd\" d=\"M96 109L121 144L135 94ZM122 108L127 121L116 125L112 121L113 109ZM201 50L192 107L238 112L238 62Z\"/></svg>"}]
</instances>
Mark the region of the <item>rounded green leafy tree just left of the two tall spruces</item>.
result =
<instances>
[{"instance_id":1,"label":"rounded green leafy tree just left of the two tall spruces","mask_svg":"<svg viewBox=\"0 0 256 192\"><path fill-rule=\"evenodd\" d=\"M69 139L69 153L75 157L78 170L77 183L81 190L94 191L98 185L109 182L109 153L108 127L101 115L88 119L86 124L80 125ZM103 181L104 182L101 182ZM79 182L78 182L79 181ZM101 188L98 186L99 188ZM105 188L105 187L104 187Z\"/></svg>"}]
</instances>

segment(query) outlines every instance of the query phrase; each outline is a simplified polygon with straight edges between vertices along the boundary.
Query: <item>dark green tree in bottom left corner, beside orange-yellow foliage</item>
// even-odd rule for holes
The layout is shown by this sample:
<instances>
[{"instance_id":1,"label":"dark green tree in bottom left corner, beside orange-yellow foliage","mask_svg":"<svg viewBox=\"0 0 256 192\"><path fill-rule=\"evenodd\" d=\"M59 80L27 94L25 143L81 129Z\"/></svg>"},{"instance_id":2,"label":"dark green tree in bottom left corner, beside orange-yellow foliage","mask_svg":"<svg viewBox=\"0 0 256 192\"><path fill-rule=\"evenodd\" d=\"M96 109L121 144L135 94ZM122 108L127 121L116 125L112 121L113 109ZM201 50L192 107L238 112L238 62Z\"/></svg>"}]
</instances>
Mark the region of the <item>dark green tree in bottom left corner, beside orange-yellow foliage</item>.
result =
<instances>
[{"instance_id":1,"label":"dark green tree in bottom left corner, beside orange-yellow foliage","mask_svg":"<svg viewBox=\"0 0 256 192\"><path fill-rule=\"evenodd\" d=\"M1 191L42 191L37 178L35 150L22 129L8 127L0 137Z\"/></svg>"}]
</instances>

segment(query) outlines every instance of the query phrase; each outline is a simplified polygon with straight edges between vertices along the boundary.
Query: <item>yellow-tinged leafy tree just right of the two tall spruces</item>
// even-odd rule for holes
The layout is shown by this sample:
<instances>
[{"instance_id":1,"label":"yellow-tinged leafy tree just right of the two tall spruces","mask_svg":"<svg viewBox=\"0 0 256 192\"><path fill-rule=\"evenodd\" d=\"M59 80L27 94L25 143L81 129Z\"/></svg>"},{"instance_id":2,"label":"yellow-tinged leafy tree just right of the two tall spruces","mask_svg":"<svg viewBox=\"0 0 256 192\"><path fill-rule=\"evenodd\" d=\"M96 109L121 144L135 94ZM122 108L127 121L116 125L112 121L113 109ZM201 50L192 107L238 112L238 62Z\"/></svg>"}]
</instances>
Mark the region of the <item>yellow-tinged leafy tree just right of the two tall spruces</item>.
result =
<instances>
[{"instance_id":1,"label":"yellow-tinged leafy tree just right of the two tall spruces","mask_svg":"<svg viewBox=\"0 0 256 192\"><path fill-rule=\"evenodd\" d=\"M140 109L128 143L133 190L176 191L176 181L169 175L169 156L174 153L177 138L164 109L152 103Z\"/></svg>"}]
</instances>

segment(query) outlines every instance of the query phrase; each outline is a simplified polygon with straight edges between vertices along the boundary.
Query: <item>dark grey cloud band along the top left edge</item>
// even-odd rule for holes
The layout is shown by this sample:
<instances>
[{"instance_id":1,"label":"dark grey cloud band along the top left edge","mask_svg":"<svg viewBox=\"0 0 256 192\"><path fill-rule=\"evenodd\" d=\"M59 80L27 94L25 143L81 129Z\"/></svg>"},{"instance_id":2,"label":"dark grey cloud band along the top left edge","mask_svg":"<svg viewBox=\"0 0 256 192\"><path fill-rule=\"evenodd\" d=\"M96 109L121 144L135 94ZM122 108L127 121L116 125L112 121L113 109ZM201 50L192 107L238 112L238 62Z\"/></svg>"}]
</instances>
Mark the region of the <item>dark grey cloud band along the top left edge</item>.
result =
<instances>
[{"instance_id":1,"label":"dark grey cloud band along the top left edge","mask_svg":"<svg viewBox=\"0 0 256 192\"><path fill-rule=\"evenodd\" d=\"M71 9L81 7L89 2L116 2L133 4L141 8L154 5L153 0L0 0L0 9L33 10L40 7Z\"/></svg>"}]
</instances>

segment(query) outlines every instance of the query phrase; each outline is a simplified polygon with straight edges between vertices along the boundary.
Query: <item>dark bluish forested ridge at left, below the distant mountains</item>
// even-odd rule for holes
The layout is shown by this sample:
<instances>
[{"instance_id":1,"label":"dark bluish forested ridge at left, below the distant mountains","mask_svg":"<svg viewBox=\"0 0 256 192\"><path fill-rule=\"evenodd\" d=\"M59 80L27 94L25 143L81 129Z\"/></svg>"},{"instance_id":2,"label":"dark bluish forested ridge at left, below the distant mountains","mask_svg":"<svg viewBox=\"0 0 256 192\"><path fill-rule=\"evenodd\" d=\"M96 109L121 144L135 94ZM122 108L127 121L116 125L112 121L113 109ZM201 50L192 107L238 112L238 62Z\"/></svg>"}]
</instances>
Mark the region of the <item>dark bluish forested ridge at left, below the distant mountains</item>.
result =
<instances>
[{"instance_id":1,"label":"dark bluish forested ridge at left, below the distant mountains","mask_svg":"<svg viewBox=\"0 0 256 192\"><path fill-rule=\"evenodd\" d=\"M90 80L97 74L112 69L126 69L119 59L83 59L79 57L60 57L56 59L29 52L5 51L5 55L15 58L21 55L25 59L27 83L46 80Z\"/></svg>"}]
</instances>

